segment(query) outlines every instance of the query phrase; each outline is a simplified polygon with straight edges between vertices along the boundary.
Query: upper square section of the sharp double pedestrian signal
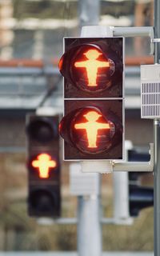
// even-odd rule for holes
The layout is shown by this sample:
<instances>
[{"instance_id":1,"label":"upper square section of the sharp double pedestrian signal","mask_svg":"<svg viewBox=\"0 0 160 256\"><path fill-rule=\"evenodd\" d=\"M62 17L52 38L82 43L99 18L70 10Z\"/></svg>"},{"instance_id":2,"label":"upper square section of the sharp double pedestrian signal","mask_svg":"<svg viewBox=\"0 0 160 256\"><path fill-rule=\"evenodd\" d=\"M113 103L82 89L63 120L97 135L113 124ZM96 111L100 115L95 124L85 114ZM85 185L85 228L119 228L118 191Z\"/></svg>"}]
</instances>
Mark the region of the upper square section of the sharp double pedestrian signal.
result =
<instances>
[{"instance_id":1,"label":"upper square section of the sharp double pedestrian signal","mask_svg":"<svg viewBox=\"0 0 160 256\"><path fill-rule=\"evenodd\" d=\"M122 98L123 38L65 38L65 98Z\"/></svg>"}]
</instances>

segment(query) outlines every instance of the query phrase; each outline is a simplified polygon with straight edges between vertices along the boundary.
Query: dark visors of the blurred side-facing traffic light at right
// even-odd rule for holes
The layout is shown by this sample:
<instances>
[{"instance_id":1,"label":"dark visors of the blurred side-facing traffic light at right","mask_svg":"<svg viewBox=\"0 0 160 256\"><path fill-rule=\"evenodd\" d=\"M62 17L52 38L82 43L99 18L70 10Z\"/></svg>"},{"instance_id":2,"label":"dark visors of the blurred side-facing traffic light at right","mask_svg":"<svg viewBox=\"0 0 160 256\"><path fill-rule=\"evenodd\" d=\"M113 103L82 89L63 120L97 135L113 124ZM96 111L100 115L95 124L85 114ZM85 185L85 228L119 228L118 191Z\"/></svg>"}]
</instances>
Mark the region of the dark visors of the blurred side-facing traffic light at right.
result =
<instances>
[{"instance_id":1,"label":"dark visors of the blurred side-facing traffic light at right","mask_svg":"<svg viewBox=\"0 0 160 256\"><path fill-rule=\"evenodd\" d=\"M150 154L128 150L128 159L132 162L149 162ZM131 217L137 217L140 210L154 206L154 188L142 186L139 178L146 173L130 172L129 177L129 210Z\"/></svg>"}]
</instances>

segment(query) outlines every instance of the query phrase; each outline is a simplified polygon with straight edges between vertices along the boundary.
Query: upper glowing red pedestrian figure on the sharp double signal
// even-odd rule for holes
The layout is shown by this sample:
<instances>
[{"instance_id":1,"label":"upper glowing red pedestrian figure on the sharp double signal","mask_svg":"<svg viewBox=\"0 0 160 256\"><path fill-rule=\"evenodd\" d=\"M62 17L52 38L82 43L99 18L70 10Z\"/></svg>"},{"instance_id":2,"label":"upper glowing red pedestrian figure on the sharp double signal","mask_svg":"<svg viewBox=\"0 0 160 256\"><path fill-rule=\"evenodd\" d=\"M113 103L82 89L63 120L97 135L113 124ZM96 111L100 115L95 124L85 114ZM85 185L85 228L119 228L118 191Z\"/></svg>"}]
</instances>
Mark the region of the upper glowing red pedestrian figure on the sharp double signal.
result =
<instances>
[{"instance_id":1,"label":"upper glowing red pedestrian figure on the sharp double signal","mask_svg":"<svg viewBox=\"0 0 160 256\"><path fill-rule=\"evenodd\" d=\"M98 50L88 50L86 53L86 58L88 60L83 62L75 62L75 67L85 67L86 74L88 78L88 86L98 86L97 85L97 76L98 76L98 68L109 67L109 62L98 61L99 55L102 55L98 52Z\"/></svg>"}]
</instances>

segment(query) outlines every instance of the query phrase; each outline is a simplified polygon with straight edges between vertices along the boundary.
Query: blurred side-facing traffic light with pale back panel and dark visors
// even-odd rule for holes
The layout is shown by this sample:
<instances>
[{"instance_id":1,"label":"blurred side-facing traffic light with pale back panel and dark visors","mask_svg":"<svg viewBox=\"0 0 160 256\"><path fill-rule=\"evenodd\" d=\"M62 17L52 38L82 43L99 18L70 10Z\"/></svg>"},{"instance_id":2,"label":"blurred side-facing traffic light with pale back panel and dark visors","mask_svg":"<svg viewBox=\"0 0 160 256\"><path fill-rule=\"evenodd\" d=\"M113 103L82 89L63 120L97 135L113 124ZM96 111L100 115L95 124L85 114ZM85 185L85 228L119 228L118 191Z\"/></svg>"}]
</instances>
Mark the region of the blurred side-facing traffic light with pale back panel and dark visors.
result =
<instances>
[{"instance_id":1,"label":"blurred side-facing traffic light with pale back panel and dark visors","mask_svg":"<svg viewBox=\"0 0 160 256\"><path fill-rule=\"evenodd\" d=\"M126 159L129 162L149 162L147 149L134 147L126 141ZM114 172L114 218L133 222L142 216L145 208L154 206L153 174L149 172ZM131 218L130 218L131 217Z\"/></svg>"}]
</instances>

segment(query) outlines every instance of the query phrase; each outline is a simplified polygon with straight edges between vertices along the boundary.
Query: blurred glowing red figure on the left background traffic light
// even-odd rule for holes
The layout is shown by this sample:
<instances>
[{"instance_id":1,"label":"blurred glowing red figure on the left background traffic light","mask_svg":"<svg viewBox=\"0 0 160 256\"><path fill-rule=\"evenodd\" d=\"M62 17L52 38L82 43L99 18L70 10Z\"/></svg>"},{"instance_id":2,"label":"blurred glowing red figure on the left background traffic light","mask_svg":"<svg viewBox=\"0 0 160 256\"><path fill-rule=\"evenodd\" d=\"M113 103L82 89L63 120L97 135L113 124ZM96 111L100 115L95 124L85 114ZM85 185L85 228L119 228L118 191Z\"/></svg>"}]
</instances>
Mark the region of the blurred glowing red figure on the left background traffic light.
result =
<instances>
[{"instance_id":1,"label":"blurred glowing red figure on the left background traffic light","mask_svg":"<svg viewBox=\"0 0 160 256\"><path fill-rule=\"evenodd\" d=\"M38 159L32 161L32 166L38 168L40 178L49 178L50 168L57 166L54 160L51 160L50 154L39 154Z\"/></svg>"}]
</instances>

